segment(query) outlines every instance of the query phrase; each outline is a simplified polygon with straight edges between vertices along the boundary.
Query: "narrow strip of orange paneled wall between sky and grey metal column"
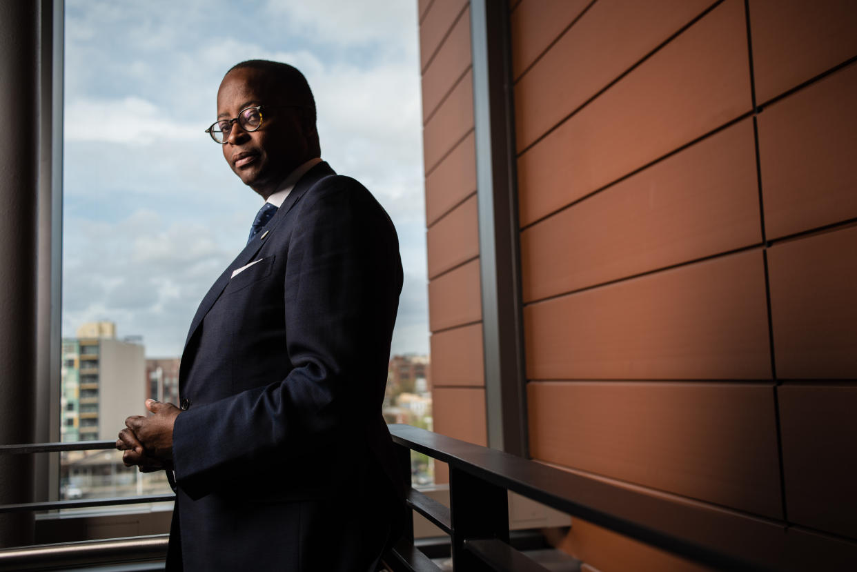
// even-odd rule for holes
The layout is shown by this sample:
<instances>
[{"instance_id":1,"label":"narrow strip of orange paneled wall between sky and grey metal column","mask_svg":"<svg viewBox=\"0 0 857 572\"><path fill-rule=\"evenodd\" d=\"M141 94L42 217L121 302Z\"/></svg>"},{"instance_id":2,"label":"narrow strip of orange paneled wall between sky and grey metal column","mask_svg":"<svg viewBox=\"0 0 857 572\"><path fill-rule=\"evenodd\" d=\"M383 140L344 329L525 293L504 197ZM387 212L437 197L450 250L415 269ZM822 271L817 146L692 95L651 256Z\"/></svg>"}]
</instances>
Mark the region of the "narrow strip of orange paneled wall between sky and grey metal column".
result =
<instances>
[{"instance_id":1,"label":"narrow strip of orange paneled wall between sky and grey metal column","mask_svg":"<svg viewBox=\"0 0 857 572\"><path fill-rule=\"evenodd\" d=\"M421 0L418 8L434 431L485 445L470 7ZM435 465L446 482L446 467Z\"/></svg>"}]
</instances>

